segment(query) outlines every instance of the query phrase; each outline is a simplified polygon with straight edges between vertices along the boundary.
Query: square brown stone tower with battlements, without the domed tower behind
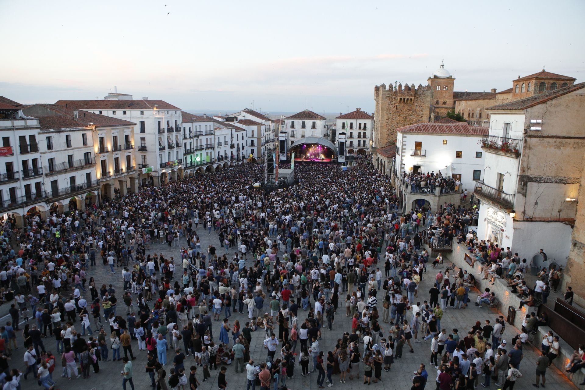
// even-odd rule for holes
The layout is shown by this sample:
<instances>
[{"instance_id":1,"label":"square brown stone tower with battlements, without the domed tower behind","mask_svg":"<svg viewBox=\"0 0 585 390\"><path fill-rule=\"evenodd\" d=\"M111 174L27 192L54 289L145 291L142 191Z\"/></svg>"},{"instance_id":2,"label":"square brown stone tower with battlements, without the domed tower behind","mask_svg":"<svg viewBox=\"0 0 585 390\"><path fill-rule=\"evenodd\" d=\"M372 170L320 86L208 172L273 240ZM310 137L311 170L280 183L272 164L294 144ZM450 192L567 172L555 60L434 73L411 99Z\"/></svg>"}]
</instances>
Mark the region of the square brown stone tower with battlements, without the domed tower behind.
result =
<instances>
[{"instance_id":1,"label":"square brown stone tower with battlements, without the domed tower behind","mask_svg":"<svg viewBox=\"0 0 585 390\"><path fill-rule=\"evenodd\" d=\"M396 142L398 127L430 122L432 91L429 85L418 88L414 84L376 85L374 87L374 146L388 146Z\"/></svg>"}]
</instances>

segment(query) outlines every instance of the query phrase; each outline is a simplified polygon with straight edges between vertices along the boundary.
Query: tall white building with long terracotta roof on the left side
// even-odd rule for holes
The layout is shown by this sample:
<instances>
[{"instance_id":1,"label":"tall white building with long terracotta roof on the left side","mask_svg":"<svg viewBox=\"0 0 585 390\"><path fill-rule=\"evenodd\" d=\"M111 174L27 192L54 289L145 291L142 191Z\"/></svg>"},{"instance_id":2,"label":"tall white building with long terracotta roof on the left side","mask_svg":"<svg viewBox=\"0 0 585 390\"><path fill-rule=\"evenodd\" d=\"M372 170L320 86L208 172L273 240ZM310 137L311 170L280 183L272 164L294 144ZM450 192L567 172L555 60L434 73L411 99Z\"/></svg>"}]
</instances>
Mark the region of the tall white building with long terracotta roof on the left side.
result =
<instances>
[{"instance_id":1,"label":"tall white building with long terracotta roof on the left side","mask_svg":"<svg viewBox=\"0 0 585 390\"><path fill-rule=\"evenodd\" d=\"M56 104L84 109L137 124L137 175L143 184L183 177L181 109L163 100L132 99L132 95L108 94L104 100L60 100Z\"/></svg>"}]
</instances>

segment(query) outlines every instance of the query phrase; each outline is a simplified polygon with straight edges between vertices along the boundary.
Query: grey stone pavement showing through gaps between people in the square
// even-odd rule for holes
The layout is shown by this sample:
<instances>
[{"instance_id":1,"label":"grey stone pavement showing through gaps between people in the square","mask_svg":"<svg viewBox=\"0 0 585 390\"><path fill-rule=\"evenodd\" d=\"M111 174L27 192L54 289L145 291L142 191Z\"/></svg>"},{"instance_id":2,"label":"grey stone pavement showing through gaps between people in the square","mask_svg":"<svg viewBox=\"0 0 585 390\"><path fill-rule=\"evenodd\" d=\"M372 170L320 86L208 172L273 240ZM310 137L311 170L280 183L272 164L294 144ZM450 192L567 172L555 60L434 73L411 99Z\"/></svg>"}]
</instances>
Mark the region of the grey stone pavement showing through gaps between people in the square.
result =
<instances>
[{"instance_id":1,"label":"grey stone pavement showing through gaps between people in the square","mask_svg":"<svg viewBox=\"0 0 585 390\"><path fill-rule=\"evenodd\" d=\"M209 244L214 244L217 248L218 246L218 236L213 231L211 235L208 234L207 230L198 229L198 233L201 234L199 236L201 240L201 247L207 248ZM181 240L181 244L185 244L186 241ZM178 248L177 247L168 247L166 243L164 244L151 244L150 245L150 253L163 253L165 257L167 256L174 256L180 258L178 256ZM148 253L148 251L147 251ZM225 249L218 250L218 254L225 253ZM233 250L230 251L230 254L233 255ZM247 266L252 265L252 261L248 260L246 262ZM425 299L428 299L428 291L429 288L432 287L432 283L435 278L436 271L433 271L432 268L428 269L428 272L423 275L423 279L421 285L419 286L419 294L418 298L415 300L420 300L421 302ZM111 274L109 272L109 267L107 265L102 265L101 259L98 258L97 266L90 267L90 271L88 272L88 279L89 276L93 276L98 285L102 283L112 283L113 287L116 289L116 292L121 292L123 287L122 281L122 273L121 271L116 272L116 274ZM89 292L87 292L87 296L90 296ZM136 296L136 295L135 295ZM474 302L475 295L470 294L470 298L472 302ZM382 312L382 301L380 294L378 294L378 310L380 313ZM333 330L330 332L329 330L322 328L322 340L319 340L320 348L322 351L333 350L335 348L336 340L342 335L343 332L351 332L351 322L349 317L345 315L345 305L343 304L345 299L340 297L340 307L337 310L335 316L335 322L333 324ZM2 305L5 309L4 306ZM5 309L7 310L7 309ZM118 312L123 312L123 310L118 310ZM442 327L445 329L451 330L453 328L459 329L459 334L463 337L467 330L471 328L472 325L477 320L480 320L482 323L484 320L489 319L492 323L495 322L495 318L497 317L497 313L490 313L487 311L486 308L480 309L477 306L474 306L473 303L467 309L463 310L455 310L449 308L446 310L445 315L443 316L443 320L441 322ZM410 319L411 314L408 314L408 319ZM307 317L307 312L299 312L299 323L301 323L305 317ZM4 324L5 321L9 319L4 318L1 320L1 323ZM240 324L244 324L247 320L247 313L238 314L233 313L232 318L230 319L230 325L233 323L234 320L238 319ZM75 323L77 328L80 328L80 323ZM388 336L388 330L390 329L390 324L382 323L384 336ZM214 334L219 335L219 322L214 322ZM22 325L21 325L22 329ZM505 329L504 339L508 341L508 345L510 345L512 337L514 337L518 333L517 329L508 325ZM87 337L87 336L86 336ZM45 342L45 347L48 350L56 351L56 341L54 339L43 339ZM257 363L260 361L266 360L267 353L266 349L263 347L262 341L264 340L264 332L259 330L257 332L252 333L252 343L250 345L250 356L256 361ZM231 341L231 340L230 340ZM12 356L11 367L20 368L20 370L24 370L24 363L23 363L23 347L22 347L22 338L20 337L20 332L18 336L18 344L20 348L15 351ZM136 389L151 389L150 387L150 378L144 371L144 365L146 364L146 351L138 351L136 341L132 343L133 353L137 357L135 361L133 361L133 381ZM230 347L233 345L233 341L230 342ZM429 356L430 356L430 342L425 343L413 343L414 346L414 353L408 352L408 345L404 347L404 353L401 359L395 359L394 364L392 365L391 372L382 372L382 381L378 383L372 383L370 386L364 385L362 378L353 379L353 381L347 379L345 384L339 383L339 375L333 376L333 387L343 387L343 388L352 388L356 385L359 388L384 388L384 389L409 389L412 384L412 376L413 371L416 370L419 364L424 363L426 364L426 368L428 370L429 379L426 385L426 389L434 389L435 388L435 378L436 378L436 370L429 364ZM280 348L278 348L280 350ZM363 346L360 348L360 351L363 351ZM123 351L121 351L123 353ZM525 389L534 389L532 383L535 381L535 362L538 355L536 354L537 351L535 348L532 347L525 347L524 350L524 360L522 360L520 371L524 375L524 377L518 379L517 384L515 386L515 390L525 390ZM111 352L110 352L111 356ZM168 353L168 358L172 358L173 353ZM278 356L278 354L277 354ZM190 367L192 360L191 357L188 357L185 360L185 367ZM53 379L56 379L57 385L56 388L60 390L77 390L77 389L96 389L96 390L109 390L109 389L121 389L122 388L122 377L119 373L122 371L123 364L122 361L113 363L112 361L108 362L100 362L100 371L98 374L91 374L90 379L73 379L71 381L67 380L66 378L61 378L61 367L60 367L60 359L57 358L57 367L53 372ZM168 370L172 367L171 364L167 364L167 374ZM228 381L228 389L243 389L246 388L246 374L240 373L235 374L234 372L235 367L228 366L228 375L226 375ZM311 388L316 389L316 379L317 373L313 372L309 374L307 377L301 376L301 367L300 365L295 365L295 375L294 379L288 380L286 385L288 388L291 389L301 389L301 388ZM213 370L211 371L211 378L207 381L202 382L199 386L199 389L210 390L210 389L217 389L217 376L219 371ZM201 382L203 376L203 372L201 368L198 368L197 371L197 378ZM168 375L167 378L168 380ZM547 372L547 388L555 388L555 390L565 390L565 389L576 389L571 382L567 381L566 377L556 369L550 368ZM27 381L23 379L23 389L37 389L36 381L33 378L30 378ZM326 382L325 382L326 385ZM126 384L127 389L130 389L129 384ZM479 387L481 388L481 386ZM491 389L498 389L497 386L494 385L492 382Z\"/></svg>"}]
</instances>

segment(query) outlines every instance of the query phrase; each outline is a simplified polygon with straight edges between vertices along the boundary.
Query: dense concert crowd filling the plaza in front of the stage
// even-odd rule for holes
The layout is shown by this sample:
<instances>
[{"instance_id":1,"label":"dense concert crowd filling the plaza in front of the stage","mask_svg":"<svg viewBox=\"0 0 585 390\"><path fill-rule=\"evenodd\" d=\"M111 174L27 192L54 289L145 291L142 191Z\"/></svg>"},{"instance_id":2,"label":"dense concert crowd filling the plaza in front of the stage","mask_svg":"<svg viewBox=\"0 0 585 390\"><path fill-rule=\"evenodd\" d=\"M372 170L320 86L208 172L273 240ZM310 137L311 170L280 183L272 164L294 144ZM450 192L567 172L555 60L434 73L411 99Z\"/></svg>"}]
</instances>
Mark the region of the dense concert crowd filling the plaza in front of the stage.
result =
<instances>
[{"instance_id":1,"label":"dense concert crowd filling the plaza in front of the stage","mask_svg":"<svg viewBox=\"0 0 585 390\"><path fill-rule=\"evenodd\" d=\"M298 184L274 191L252 186L262 173L243 164L143 186L68 215L30 215L24 227L5 220L0 283L11 320L0 328L4 390L29 375L56 389L59 360L68 380L122 360L122 387L134 389L136 351L147 353L150 384L163 390L195 390L212 370L225 389L228 366L245 372L247 389L286 390L297 364L302 376L317 372L319 388L325 380L370 385L391 371L405 344L412 353L416 343L429 344L438 388L476 388L481 375L484 387L494 376L513 388L523 343L506 347L503 317L493 327L476 323L463 339L442 327L448 306L468 308L473 275L441 270L428 300L419 298L427 269L439 263L428 264L425 242L467 238L477 208L404 213L390 179L365 160L346 171L298 164ZM503 258L500 251L494 260ZM97 280L99 267L111 274ZM335 327L340 305L350 332ZM334 347L323 344L325 332L339 332ZM262 334L255 344L266 356L254 352L254 334ZM24 370L9 360L19 341ZM424 388L427 377L421 364L412 387Z\"/></svg>"}]
</instances>

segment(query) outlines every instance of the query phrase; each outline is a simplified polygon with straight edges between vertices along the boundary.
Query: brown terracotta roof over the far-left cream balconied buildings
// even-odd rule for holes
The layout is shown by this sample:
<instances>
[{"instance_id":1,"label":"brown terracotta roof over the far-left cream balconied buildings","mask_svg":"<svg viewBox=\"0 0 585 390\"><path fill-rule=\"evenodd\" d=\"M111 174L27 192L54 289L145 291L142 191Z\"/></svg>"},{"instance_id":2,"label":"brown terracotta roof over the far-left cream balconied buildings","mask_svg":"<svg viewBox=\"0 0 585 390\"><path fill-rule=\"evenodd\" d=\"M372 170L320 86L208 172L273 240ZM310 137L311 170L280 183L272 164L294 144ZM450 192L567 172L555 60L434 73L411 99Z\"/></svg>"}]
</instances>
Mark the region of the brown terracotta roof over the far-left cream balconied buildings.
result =
<instances>
[{"instance_id":1,"label":"brown terracotta roof over the far-left cream balconied buildings","mask_svg":"<svg viewBox=\"0 0 585 390\"><path fill-rule=\"evenodd\" d=\"M89 127L91 126L90 123L93 123L95 127L136 125L136 123L128 120L111 118L83 110L77 110L78 115L77 119L75 119L73 111L73 108L65 108L65 106L56 104L34 104L22 108L22 112L25 115L39 119L41 130Z\"/></svg>"}]
</instances>

